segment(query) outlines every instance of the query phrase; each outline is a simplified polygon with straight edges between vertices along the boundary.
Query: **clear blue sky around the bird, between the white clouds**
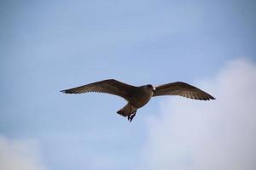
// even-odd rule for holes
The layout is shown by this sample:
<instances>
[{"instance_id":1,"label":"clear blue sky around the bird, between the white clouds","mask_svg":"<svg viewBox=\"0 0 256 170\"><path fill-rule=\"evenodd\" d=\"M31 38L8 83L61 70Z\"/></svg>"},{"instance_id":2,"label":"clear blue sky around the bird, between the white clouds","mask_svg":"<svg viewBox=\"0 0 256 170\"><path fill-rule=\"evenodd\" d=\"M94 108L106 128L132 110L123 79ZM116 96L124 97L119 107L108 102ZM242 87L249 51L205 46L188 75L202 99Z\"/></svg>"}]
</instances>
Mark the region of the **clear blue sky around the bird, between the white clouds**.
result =
<instances>
[{"instance_id":1,"label":"clear blue sky around the bird, between the white clouds","mask_svg":"<svg viewBox=\"0 0 256 170\"><path fill-rule=\"evenodd\" d=\"M195 83L230 60L255 62L255 8L254 1L1 1L0 134L37 141L47 169L134 168L147 118L159 116L165 99L152 99L128 123L116 114L123 99L59 91L108 78Z\"/></svg>"}]
</instances>

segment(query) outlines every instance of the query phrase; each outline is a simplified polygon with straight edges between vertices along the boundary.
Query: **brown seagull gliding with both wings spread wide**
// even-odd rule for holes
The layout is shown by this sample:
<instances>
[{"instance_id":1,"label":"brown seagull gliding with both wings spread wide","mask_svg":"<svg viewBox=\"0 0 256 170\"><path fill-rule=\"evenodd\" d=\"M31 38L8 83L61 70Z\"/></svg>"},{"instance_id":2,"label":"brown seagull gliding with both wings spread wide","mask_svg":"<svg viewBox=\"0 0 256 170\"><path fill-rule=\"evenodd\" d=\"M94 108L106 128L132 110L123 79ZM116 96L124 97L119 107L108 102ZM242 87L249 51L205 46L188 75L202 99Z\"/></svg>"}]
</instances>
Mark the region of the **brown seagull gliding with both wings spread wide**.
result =
<instances>
[{"instance_id":1,"label":"brown seagull gliding with both wings spread wide","mask_svg":"<svg viewBox=\"0 0 256 170\"><path fill-rule=\"evenodd\" d=\"M136 116L137 109L142 108L152 97L161 95L179 95L190 99L210 100L215 99L199 88L185 82L171 82L154 87L152 84L132 86L114 79L92 82L77 88L61 90L64 94L84 94L89 92L113 94L124 98L128 103L117 111L121 116L127 116L131 122Z\"/></svg>"}]
</instances>

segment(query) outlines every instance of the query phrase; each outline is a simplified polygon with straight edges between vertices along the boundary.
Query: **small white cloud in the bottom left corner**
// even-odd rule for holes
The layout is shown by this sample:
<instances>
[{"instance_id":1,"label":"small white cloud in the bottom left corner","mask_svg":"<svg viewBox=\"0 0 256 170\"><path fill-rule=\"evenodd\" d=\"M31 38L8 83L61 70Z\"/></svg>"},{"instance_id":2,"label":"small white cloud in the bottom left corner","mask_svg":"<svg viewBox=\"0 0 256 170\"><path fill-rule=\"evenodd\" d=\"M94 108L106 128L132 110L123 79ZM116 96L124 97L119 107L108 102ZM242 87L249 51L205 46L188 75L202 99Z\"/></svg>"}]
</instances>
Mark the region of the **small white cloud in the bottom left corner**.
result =
<instances>
[{"instance_id":1,"label":"small white cloud in the bottom left corner","mask_svg":"<svg viewBox=\"0 0 256 170\"><path fill-rule=\"evenodd\" d=\"M0 169L46 170L33 140L10 140L0 136Z\"/></svg>"}]
</instances>

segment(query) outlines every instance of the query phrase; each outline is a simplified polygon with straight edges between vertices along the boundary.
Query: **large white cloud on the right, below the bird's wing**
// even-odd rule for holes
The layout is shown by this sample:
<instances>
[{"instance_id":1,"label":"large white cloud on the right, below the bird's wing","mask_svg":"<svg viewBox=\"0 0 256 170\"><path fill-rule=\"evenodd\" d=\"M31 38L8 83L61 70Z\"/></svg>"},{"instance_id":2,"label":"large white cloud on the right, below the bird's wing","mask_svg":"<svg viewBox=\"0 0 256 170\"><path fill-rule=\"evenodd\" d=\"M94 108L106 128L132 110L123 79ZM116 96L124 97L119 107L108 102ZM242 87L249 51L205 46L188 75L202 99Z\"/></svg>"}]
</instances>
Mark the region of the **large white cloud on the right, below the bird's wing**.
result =
<instances>
[{"instance_id":1,"label":"large white cloud on the right, below the bird's wing","mask_svg":"<svg viewBox=\"0 0 256 170\"><path fill-rule=\"evenodd\" d=\"M148 120L141 169L256 168L256 65L231 61L212 79L195 82L217 100L172 97Z\"/></svg>"}]
</instances>

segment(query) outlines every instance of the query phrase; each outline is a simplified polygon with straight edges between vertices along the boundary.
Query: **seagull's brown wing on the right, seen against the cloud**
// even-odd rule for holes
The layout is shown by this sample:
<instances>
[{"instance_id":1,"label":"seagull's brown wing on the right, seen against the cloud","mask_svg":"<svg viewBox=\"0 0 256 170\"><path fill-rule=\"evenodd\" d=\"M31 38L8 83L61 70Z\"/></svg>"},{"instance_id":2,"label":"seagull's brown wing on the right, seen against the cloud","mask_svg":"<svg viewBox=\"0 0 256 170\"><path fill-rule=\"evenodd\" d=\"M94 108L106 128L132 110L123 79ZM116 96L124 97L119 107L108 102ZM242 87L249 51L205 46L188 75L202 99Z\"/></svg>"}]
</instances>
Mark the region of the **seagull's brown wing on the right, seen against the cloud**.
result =
<instances>
[{"instance_id":1,"label":"seagull's brown wing on the right, seen against the cloud","mask_svg":"<svg viewBox=\"0 0 256 170\"><path fill-rule=\"evenodd\" d=\"M202 99L209 100L215 99L212 95L207 94L199 88L195 88L185 82L172 82L164 85L160 85L155 88L153 96L160 95L180 95L190 99Z\"/></svg>"}]
</instances>

